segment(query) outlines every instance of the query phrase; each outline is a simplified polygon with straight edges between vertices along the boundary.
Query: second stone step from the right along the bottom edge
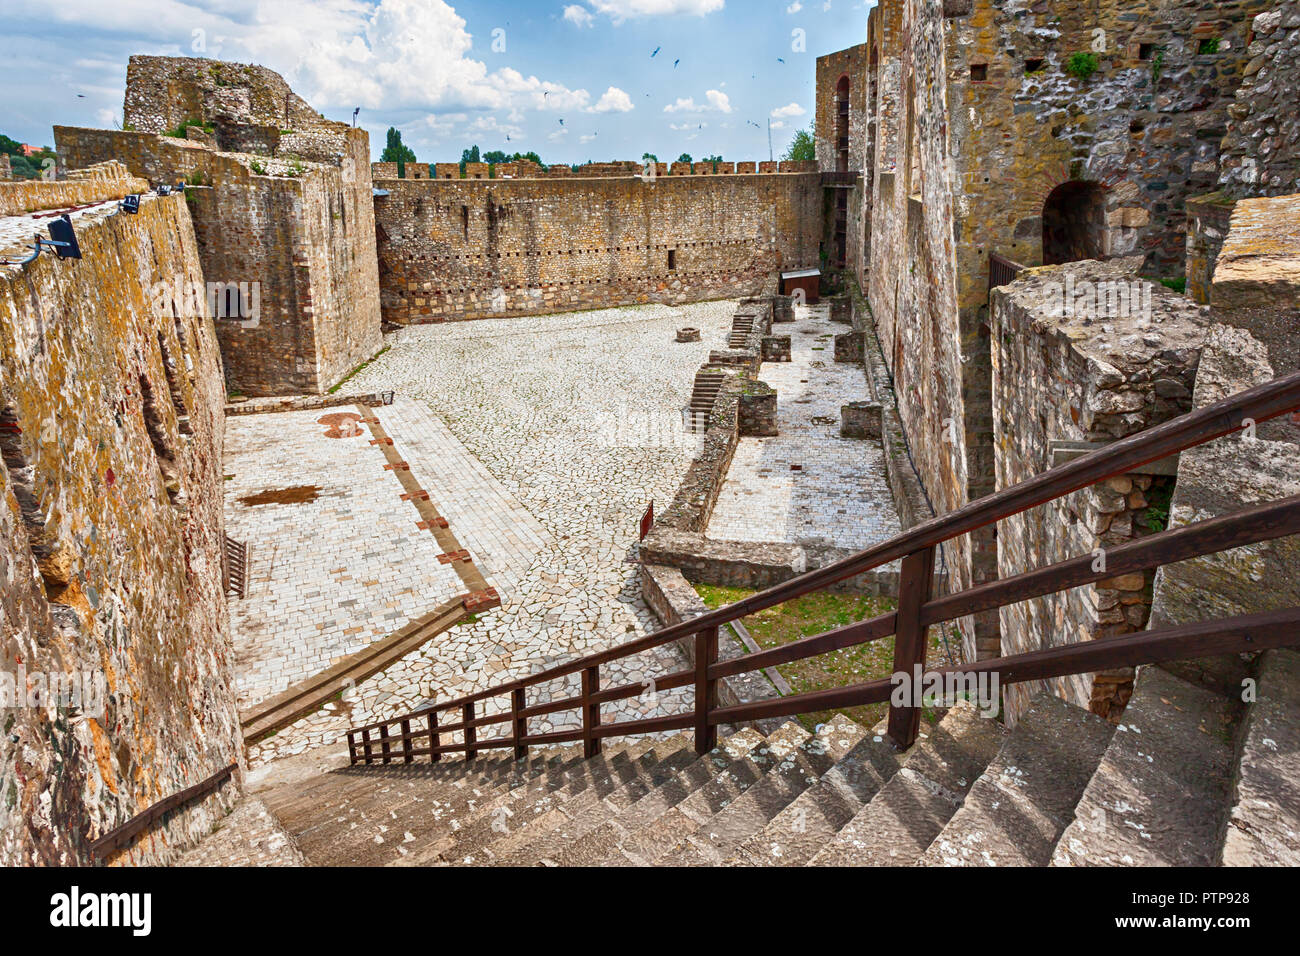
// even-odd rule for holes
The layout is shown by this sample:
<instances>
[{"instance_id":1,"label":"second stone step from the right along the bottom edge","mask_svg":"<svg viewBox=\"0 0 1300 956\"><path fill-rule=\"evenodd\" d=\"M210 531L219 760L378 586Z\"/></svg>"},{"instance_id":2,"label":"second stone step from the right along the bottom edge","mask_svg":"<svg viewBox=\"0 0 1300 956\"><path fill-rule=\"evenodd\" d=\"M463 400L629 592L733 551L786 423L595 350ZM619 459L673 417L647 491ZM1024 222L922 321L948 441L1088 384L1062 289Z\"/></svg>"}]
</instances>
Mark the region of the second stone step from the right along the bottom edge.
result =
<instances>
[{"instance_id":1,"label":"second stone step from the right along the bottom edge","mask_svg":"<svg viewBox=\"0 0 1300 956\"><path fill-rule=\"evenodd\" d=\"M1053 866L1213 866L1240 708L1144 667Z\"/></svg>"}]
</instances>

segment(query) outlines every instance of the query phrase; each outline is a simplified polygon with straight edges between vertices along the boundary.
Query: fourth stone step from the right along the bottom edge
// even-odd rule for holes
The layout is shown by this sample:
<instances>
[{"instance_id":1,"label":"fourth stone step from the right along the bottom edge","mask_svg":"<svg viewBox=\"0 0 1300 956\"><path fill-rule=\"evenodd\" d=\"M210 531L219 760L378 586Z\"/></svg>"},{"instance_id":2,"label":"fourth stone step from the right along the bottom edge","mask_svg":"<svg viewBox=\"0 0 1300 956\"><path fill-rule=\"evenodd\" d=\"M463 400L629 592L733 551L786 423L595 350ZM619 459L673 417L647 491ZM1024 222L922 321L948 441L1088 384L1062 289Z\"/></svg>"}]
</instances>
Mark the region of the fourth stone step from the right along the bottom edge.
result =
<instances>
[{"instance_id":1,"label":"fourth stone step from the right along the bottom edge","mask_svg":"<svg viewBox=\"0 0 1300 956\"><path fill-rule=\"evenodd\" d=\"M907 752L902 767L810 861L812 866L911 866L997 756L1002 724L959 702Z\"/></svg>"}]
</instances>

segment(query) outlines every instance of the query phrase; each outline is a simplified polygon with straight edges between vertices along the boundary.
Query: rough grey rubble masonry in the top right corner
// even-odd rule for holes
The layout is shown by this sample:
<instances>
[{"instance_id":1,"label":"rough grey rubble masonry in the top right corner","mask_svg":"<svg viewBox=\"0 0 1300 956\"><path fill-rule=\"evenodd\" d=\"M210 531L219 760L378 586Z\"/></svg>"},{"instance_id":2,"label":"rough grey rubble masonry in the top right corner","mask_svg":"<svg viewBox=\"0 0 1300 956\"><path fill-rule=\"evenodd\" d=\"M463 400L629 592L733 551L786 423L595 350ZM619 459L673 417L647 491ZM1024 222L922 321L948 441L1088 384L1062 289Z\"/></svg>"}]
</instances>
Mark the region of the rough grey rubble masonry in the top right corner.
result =
<instances>
[{"instance_id":1,"label":"rough grey rubble masonry in the top right corner","mask_svg":"<svg viewBox=\"0 0 1300 956\"><path fill-rule=\"evenodd\" d=\"M1249 62L1228 108L1219 182L1236 199L1300 193L1300 4L1254 18Z\"/></svg>"}]
</instances>

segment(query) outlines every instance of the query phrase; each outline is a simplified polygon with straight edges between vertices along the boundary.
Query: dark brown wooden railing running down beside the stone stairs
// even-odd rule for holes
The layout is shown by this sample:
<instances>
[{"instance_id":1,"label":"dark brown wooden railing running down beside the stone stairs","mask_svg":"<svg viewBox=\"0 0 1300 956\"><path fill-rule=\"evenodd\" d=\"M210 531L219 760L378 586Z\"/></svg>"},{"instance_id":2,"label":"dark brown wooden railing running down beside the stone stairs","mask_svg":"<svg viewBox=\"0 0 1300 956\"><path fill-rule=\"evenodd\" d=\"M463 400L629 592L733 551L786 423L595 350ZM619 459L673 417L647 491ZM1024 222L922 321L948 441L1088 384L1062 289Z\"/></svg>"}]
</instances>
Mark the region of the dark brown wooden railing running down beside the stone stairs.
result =
<instances>
[{"instance_id":1,"label":"dark brown wooden railing running down beside the stone stairs","mask_svg":"<svg viewBox=\"0 0 1300 956\"><path fill-rule=\"evenodd\" d=\"M430 741L429 748L413 750L416 756L432 754L436 760L442 753L462 752L473 756L481 749L494 749L507 745L514 747L516 753L525 753L530 745L576 740L584 741L584 749L590 756L599 752L599 741L606 736L655 732L645 730L645 727L664 730L694 727L697 749L702 748L701 752L703 753L711 749L715 735L714 728L720 722L719 719L714 719L718 714L758 713L755 709L763 709L763 713L767 714L771 708L777 708L780 713L775 714L774 711L775 715L792 715L811 710L831 709L822 704L822 701L827 700L875 702L875 697L867 701L866 698L861 698L861 695L879 693L880 682L857 688L824 691L819 692L820 696L800 695L785 697L781 701L762 701L753 705L742 705L741 708L719 709L716 708L715 697L716 682L723 678L805 659L892 635L897 636L894 670L898 671L901 667L905 672L911 672L914 666L919 665L924 667L924 635L926 630L933 624L954 620L982 610L1004 607L1032 597L1082 587L1121 574L1153 570L1164 564L1187 561L1188 558L1297 535L1300 533L1300 497L1258 505L1236 514L1223 515L1117 545L1106 549L1105 564L1100 568L1095 567L1095 555L1083 555L1050 567L970 588L956 594L945 597L931 597L930 594L933 579L935 549L946 541L1032 507L1045 505L1072 492L1092 486L1106 479L1128 473L1150 462L1242 431L1252 423L1268 421L1297 408L1300 408L1300 372L1277 378L1232 398L1166 421L1156 428L1119 440L1105 449L1046 471L1014 488L918 524L910 531L880 545L868 548L816 571L800 575L790 581L768 588L727 607L707 611L697 618L646 635L634 641L551 667L528 678L512 680L445 704L434 704L393 721L356 727L348 731L347 735L352 762L372 763L376 760L385 763L390 762L393 760L391 747L394 741L402 744L404 750L403 757L407 757L411 754L411 744L415 740ZM904 566L897 611L849 624L848 627L828 631L814 637L805 637L780 648L746 654L725 662L716 659L718 630L723 624L784 604L792 598L822 591L832 584L900 559L904 562ZM1175 632L1178 632L1176 628ZM602 704L634 697L645 691L645 687L640 684L625 684L602 691L599 687L601 666L682 639L696 641L694 667L689 671L680 671L656 680L655 689L668 691L693 684L697 700L696 713L658 721L601 724L599 708ZM1292 643L1295 643L1295 635L1292 635ZM1080 656L1074 648L1075 645L1067 645L1037 653L1045 654L1045 659L1052 662L1052 666L1083 667L1082 662L1093 659L1088 654ZM1165 653L1167 644L1108 639L1106 641L1097 643L1097 648L1114 648L1117 649L1115 653L1126 649L1135 649L1132 653L1138 653L1141 649L1158 648L1160 653ZM1098 650L1098 653L1101 652ZM1200 653L1190 652L1186 656L1195 657L1200 656ZM1101 659L1112 658L1102 656ZM957 670L963 674L996 670L998 674L1002 674L1001 679L1005 683L1014 683L1014 680L1008 679L1006 674L1019 671L1008 670L1004 672L1000 665L1004 669L1014 669L1019 666L1018 661L1019 658L997 658L980 665L978 669L966 667ZM1136 661L1136 663L1150 662L1153 661ZM1106 670L1118 666L1127 665L1108 663L1104 667L1062 671L1061 675L1088 672L1089 670ZM952 669L948 669L948 671L952 671ZM582 675L582 691L578 696L549 701L532 708L524 706L523 692L526 688L575 674ZM1020 679L1028 680L1034 678ZM888 682L884 685L887 684ZM864 691L863 688L870 688L870 691ZM507 711L488 717L474 715L477 704L498 697L510 698L511 706ZM887 698L888 693L880 700ZM699 705L701 701L703 701L703 706ZM789 708L802 709L790 710ZM437 723L438 713L455 709L462 711L463 719L460 723ZM580 710L582 713L582 730L528 735L526 724L530 718L564 710ZM906 713L890 713L890 737L896 744L910 747L915 740L916 715L915 709L907 709ZM411 722L421 719L428 721L428 728L412 731ZM725 721L727 718L722 719ZM478 727L502 723L512 724L510 737L490 741L476 740L476 730ZM390 728L394 724L402 726L402 734L396 737L390 734ZM372 739L373 731L380 731L381 736L378 741ZM467 740L464 744L441 745L434 743L438 735L456 731L465 734ZM374 753L376 744L382 748L378 754Z\"/></svg>"}]
</instances>

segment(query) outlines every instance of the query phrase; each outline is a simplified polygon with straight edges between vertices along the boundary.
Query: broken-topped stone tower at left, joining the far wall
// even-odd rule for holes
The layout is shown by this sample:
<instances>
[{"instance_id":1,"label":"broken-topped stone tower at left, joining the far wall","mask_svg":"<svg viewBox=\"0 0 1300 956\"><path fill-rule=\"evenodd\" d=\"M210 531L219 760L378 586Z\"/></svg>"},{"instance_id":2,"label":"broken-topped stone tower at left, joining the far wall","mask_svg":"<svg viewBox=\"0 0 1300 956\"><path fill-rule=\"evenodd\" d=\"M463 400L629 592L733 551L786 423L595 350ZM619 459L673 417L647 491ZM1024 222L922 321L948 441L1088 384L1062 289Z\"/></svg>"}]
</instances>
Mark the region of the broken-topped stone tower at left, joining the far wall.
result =
<instances>
[{"instance_id":1,"label":"broken-topped stone tower at left, joining the far wall","mask_svg":"<svg viewBox=\"0 0 1300 956\"><path fill-rule=\"evenodd\" d=\"M259 315L218 321L233 393L322 393L382 349L364 130L321 118L269 70L185 57L133 57L126 112L135 130L56 127L60 159L198 183L205 280L256 284L243 306ZM216 131L157 135L186 120Z\"/></svg>"}]
</instances>

